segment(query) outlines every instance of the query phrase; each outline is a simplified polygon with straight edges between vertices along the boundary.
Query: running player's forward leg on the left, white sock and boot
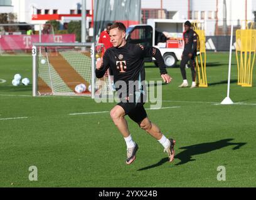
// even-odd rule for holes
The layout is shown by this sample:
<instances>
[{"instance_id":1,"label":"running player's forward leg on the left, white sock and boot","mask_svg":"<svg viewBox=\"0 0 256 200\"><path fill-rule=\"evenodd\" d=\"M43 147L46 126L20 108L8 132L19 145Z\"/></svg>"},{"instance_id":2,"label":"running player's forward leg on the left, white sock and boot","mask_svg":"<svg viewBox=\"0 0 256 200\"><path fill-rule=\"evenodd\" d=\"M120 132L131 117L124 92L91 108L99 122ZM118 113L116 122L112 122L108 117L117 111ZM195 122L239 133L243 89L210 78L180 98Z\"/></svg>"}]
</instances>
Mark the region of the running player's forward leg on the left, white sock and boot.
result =
<instances>
[{"instance_id":1,"label":"running player's forward leg on the left, white sock and boot","mask_svg":"<svg viewBox=\"0 0 256 200\"><path fill-rule=\"evenodd\" d=\"M128 103L119 103L110 111L110 116L114 121L115 126L117 126L120 133L124 137L127 146L127 164L131 164L134 159L136 159L136 152L139 149L137 144L132 140L132 136L128 129L127 121L124 118L125 110L129 110L129 106L130 105Z\"/></svg>"}]
</instances>

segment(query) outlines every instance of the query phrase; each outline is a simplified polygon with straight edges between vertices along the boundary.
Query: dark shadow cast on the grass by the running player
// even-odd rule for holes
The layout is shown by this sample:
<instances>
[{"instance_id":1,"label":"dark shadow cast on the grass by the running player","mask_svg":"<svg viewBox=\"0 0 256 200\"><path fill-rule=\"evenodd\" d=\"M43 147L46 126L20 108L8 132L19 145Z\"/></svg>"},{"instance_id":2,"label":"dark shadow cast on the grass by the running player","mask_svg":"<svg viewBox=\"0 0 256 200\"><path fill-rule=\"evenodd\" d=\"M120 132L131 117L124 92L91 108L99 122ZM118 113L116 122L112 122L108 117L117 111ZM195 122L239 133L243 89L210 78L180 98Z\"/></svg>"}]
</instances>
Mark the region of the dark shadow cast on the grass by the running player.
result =
<instances>
[{"instance_id":1,"label":"dark shadow cast on the grass by the running player","mask_svg":"<svg viewBox=\"0 0 256 200\"><path fill-rule=\"evenodd\" d=\"M191 161L195 161L196 159L193 159L193 156L199 155L199 154L205 154L209 153L211 151L215 151L221 148L225 148L227 146L234 146L233 150L240 149L243 145L247 143L230 143L233 139L221 139L220 141L212 142L212 143L201 143L201 144L194 144L191 146L184 146L179 149L185 149L184 151L181 151L181 153L178 153L175 156L175 159L179 159L180 162L175 165L181 165L186 164ZM156 168L157 166L161 166L162 164L168 162L168 158L161 159L158 163L152 164L151 166L147 166L145 168L138 169L137 171L142 171L146 169Z\"/></svg>"}]
</instances>

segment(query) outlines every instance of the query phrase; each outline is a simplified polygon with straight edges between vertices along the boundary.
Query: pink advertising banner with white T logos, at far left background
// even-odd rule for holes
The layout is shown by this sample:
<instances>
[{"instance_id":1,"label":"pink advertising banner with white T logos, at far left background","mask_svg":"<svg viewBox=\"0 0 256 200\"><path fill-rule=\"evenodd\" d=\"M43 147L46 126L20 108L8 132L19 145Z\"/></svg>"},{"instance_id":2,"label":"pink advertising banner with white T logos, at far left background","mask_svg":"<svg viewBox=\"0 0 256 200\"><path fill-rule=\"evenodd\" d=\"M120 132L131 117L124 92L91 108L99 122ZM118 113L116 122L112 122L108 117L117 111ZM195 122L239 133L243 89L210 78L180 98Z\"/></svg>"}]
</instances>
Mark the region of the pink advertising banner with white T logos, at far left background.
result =
<instances>
[{"instance_id":1,"label":"pink advertising banner with white T logos, at far left background","mask_svg":"<svg viewBox=\"0 0 256 200\"><path fill-rule=\"evenodd\" d=\"M39 35L0 35L0 50L29 50L33 43L40 42ZM45 34L41 42L75 42L75 34Z\"/></svg>"}]
</instances>

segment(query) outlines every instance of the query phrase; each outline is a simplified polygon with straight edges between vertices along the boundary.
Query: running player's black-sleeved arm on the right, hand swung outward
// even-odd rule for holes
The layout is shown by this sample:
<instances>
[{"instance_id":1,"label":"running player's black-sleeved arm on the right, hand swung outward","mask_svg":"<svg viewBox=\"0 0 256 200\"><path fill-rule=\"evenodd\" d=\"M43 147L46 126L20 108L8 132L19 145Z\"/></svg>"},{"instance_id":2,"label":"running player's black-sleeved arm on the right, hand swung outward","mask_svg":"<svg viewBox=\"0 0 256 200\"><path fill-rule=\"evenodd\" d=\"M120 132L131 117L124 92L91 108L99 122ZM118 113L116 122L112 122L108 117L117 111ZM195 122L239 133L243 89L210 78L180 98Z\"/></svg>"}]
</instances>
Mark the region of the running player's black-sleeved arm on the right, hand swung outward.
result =
<instances>
[{"instance_id":1,"label":"running player's black-sleeved arm on the right, hand swung outward","mask_svg":"<svg viewBox=\"0 0 256 200\"><path fill-rule=\"evenodd\" d=\"M156 63L159 66L161 77L163 78L163 81L165 83L171 82L171 76L168 75L166 71L166 66L164 64L164 59L161 55L161 52L156 47L144 47L141 46L141 49L143 51L142 55L145 57L154 57L156 59Z\"/></svg>"}]
</instances>

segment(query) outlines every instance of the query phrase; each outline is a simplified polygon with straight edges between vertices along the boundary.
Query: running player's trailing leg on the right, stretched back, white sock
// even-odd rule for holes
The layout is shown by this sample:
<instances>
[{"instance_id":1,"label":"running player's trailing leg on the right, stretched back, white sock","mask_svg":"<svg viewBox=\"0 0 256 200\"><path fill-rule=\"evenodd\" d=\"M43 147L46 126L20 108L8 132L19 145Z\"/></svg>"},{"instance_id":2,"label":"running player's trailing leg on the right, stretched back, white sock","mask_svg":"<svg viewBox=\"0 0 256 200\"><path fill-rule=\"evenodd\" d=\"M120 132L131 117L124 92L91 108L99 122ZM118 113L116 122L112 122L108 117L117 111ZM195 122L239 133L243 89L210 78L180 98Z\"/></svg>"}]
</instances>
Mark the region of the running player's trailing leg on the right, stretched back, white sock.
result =
<instances>
[{"instance_id":1,"label":"running player's trailing leg on the right, stretched back, white sock","mask_svg":"<svg viewBox=\"0 0 256 200\"><path fill-rule=\"evenodd\" d=\"M133 121L139 124L139 126L144 131L149 133L153 138L157 139L157 141L163 145L164 151L168 153L169 161L173 161L175 141L173 139L167 139L166 136L161 133L161 130L158 128L158 126L152 123L149 118L147 118L144 107L138 106L128 115Z\"/></svg>"}]
</instances>

